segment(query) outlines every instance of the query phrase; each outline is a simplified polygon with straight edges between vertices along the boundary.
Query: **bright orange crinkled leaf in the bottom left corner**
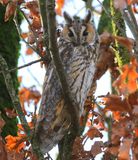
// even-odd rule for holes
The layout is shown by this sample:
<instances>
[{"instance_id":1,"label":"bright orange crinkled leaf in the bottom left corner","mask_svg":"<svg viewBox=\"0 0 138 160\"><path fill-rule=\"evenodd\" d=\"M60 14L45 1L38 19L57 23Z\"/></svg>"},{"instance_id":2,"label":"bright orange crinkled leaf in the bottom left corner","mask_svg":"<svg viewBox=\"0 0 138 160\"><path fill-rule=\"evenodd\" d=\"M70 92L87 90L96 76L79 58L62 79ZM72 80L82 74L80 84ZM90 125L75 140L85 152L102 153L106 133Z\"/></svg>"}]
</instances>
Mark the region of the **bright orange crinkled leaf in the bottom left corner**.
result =
<instances>
[{"instance_id":1,"label":"bright orange crinkled leaf in the bottom left corner","mask_svg":"<svg viewBox=\"0 0 138 160\"><path fill-rule=\"evenodd\" d=\"M19 153L24 147L24 142L27 140L27 136L24 134L18 134L18 136L8 135L5 137L6 140L6 148L9 151L16 151Z\"/></svg>"}]
</instances>

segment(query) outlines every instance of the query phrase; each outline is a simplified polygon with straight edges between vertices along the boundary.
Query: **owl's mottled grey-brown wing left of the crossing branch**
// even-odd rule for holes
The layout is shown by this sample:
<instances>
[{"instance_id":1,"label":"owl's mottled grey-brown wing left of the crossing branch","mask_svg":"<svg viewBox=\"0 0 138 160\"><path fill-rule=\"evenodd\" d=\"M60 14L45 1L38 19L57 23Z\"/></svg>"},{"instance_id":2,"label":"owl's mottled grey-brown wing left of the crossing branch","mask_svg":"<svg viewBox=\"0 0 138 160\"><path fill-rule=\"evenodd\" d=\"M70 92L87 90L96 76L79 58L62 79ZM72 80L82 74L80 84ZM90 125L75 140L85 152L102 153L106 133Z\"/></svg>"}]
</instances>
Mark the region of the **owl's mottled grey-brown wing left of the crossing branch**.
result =
<instances>
[{"instance_id":1,"label":"owl's mottled grey-brown wing left of the crossing branch","mask_svg":"<svg viewBox=\"0 0 138 160\"><path fill-rule=\"evenodd\" d=\"M51 150L61 140L69 126L67 115L63 110L64 105L61 85L51 63L44 79L42 100L36 124L40 149L43 153Z\"/></svg>"}]
</instances>

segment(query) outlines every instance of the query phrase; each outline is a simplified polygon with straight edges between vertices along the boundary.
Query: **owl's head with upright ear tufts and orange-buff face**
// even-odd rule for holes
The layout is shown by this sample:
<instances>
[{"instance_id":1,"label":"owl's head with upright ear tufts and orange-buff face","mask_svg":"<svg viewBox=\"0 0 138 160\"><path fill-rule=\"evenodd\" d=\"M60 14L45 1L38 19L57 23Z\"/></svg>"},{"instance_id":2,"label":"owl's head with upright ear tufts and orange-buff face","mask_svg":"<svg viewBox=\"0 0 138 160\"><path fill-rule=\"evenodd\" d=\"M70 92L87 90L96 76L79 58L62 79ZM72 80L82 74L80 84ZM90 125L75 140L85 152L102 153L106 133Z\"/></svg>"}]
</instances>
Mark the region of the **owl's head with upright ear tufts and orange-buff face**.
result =
<instances>
[{"instance_id":1,"label":"owl's head with upright ear tufts and orange-buff face","mask_svg":"<svg viewBox=\"0 0 138 160\"><path fill-rule=\"evenodd\" d=\"M95 38L95 29L91 21L91 11L84 19L77 17L70 17L70 15L64 12L64 18L66 25L61 33L65 41L73 43L75 46L90 44Z\"/></svg>"}]
</instances>

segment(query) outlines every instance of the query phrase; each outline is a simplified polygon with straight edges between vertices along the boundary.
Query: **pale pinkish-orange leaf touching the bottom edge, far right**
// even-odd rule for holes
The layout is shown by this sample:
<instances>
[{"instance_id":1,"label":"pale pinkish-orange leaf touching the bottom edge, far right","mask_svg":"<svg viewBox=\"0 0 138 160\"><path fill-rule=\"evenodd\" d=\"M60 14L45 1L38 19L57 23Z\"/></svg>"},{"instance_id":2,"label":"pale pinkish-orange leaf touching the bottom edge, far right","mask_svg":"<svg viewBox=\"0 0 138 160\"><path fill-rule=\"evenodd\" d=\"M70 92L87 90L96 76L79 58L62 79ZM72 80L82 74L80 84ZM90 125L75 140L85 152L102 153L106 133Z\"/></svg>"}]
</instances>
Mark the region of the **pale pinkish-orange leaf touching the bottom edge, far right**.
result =
<instances>
[{"instance_id":1,"label":"pale pinkish-orange leaf touching the bottom edge, far right","mask_svg":"<svg viewBox=\"0 0 138 160\"><path fill-rule=\"evenodd\" d=\"M119 148L118 160L130 160L130 148L132 145L132 139L123 139Z\"/></svg>"}]
</instances>

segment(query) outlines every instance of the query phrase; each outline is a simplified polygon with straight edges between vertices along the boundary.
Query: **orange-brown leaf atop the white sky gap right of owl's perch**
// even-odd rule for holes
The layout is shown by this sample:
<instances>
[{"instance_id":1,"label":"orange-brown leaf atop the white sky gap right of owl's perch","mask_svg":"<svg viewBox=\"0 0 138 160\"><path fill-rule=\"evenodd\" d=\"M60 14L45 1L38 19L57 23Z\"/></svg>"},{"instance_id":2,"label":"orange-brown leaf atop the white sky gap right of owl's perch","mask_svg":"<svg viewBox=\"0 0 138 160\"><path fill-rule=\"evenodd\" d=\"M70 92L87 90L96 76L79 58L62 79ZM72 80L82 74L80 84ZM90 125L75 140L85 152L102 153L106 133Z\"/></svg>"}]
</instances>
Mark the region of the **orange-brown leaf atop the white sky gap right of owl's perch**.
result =
<instances>
[{"instance_id":1,"label":"orange-brown leaf atop the white sky gap right of owl's perch","mask_svg":"<svg viewBox=\"0 0 138 160\"><path fill-rule=\"evenodd\" d=\"M88 132L86 133L86 135L90 139L93 139L95 137L100 137L100 138L103 137L102 133L97 128L95 128L95 127L90 127L90 129L88 130Z\"/></svg>"}]
</instances>

